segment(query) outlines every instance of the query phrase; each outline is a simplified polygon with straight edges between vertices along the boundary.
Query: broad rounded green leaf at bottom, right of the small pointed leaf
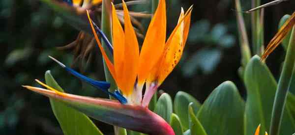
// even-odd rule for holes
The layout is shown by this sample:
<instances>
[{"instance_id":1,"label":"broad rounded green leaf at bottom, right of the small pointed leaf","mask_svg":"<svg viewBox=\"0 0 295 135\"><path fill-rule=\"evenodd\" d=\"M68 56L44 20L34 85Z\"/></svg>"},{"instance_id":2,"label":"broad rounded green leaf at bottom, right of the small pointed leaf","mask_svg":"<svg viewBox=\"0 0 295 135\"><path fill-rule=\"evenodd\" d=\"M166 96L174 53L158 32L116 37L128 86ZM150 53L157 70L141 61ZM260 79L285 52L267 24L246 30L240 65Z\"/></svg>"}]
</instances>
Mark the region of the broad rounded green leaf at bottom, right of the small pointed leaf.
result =
<instances>
[{"instance_id":1,"label":"broad rounded green leaf at bottom, right of the small pointed leaf","mask_svg":"<svg viewBox=\"0 0 295 135\"><path fill-rule=\"evenodd\" d=\"M243 135L243 115L244 102L236 85L225 81L209 95L197 118L208 135Z\"/></svg>"}]
</instances>

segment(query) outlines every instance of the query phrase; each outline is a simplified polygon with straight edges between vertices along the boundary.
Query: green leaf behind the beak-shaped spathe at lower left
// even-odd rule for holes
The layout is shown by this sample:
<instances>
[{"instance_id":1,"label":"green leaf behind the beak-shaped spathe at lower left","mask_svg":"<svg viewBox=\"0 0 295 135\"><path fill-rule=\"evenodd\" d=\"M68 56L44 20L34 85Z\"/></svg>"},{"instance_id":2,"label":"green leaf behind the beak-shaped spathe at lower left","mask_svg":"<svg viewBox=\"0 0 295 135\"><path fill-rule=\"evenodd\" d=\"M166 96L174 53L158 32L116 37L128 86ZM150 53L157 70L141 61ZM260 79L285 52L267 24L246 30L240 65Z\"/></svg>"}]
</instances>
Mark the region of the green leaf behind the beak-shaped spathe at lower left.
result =
<instances>
[{"instance_id":1,"label":"green leaf behind the beak-shaped spathe at lower left","mask_svg":"<svg viewBox=\"0 0 295 135\"><path fill-rule=\"evenodd\" d=\"M63 92L50 71L45 73L45 80L47 85ZM64 135L103 135L85 114L52 98L50 104Z\"/></svg>"}]
</instances>

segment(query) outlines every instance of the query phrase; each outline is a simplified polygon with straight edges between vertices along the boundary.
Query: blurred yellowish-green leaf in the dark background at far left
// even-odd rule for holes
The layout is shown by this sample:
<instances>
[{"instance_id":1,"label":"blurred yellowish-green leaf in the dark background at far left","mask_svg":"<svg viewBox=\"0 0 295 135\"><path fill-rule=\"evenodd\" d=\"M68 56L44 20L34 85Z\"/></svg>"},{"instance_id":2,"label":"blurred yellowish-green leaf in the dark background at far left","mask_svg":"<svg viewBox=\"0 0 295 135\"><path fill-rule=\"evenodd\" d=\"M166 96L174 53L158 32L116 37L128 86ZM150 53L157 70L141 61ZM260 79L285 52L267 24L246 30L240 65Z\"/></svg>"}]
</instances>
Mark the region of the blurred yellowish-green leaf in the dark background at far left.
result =
<instances>
[{"instance_id":1,"label":"blurred yellowish-green leaf in the dark background at far left","mask_svg":"<svg viewBox=\"0 0 295 135\"><path fill-rule=\"evenodd\" d=\"M25 49L16 49L10 52L6 59L5 59L5 66L11 67L15 65L17 62L27 59L30 54L32 54L33 50L31 48L25 48Z\"/></svg>"}]
</instances>

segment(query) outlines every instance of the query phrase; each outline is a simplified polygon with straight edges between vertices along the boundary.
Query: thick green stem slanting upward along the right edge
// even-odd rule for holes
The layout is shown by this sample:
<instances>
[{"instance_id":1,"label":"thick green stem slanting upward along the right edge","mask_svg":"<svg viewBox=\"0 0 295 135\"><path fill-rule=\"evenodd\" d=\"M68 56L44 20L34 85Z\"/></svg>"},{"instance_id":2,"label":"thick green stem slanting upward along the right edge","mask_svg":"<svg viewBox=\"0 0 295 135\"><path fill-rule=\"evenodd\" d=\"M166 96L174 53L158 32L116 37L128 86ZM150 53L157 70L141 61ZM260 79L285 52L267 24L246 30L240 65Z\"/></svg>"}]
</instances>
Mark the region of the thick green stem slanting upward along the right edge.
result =
<instances>
[{"instance_id":1,"label":"thick green stem slanting upward along the right edge","mask_svg":"<svg viewBox=\"0 0 295 135\"><path fill-rule=\"evenodd\" d=\"M284 108L286 103L286 97L288 88L291 82L292 74L295 73L294 63L295 63L295 27L292 30L292 37L290 38L287 54L285 57L285 62L281 77L279 80L278 88L275 94L274 104L272 108L271 115L271 125L269 135L278 135L280 130L280 125L282 117L284 114Z\"/></svg>"}]
</instances>

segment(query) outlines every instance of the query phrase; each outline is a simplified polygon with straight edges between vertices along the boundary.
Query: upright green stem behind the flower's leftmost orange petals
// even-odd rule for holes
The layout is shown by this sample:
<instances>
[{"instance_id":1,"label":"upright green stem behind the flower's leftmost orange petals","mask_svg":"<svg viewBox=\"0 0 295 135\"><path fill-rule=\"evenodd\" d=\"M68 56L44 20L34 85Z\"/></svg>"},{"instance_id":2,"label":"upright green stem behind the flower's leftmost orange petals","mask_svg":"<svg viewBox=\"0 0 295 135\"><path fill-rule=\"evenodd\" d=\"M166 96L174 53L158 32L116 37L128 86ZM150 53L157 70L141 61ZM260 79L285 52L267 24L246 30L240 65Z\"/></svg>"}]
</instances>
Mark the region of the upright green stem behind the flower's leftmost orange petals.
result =
<instances>
[{"instance_id":1,"label":"upright green stem behind the flower's leftmost orange petals","mask_svg":"<svg viewBox=\"0 0 295 135\"><path fill-rule=\"evenodd\" d=\"M112 44L113 36L112 36L112 6L111 0L102 0L102 13L101 13L101 30L107 36L109 41ZM113 61L113 55L109 51L105 42L102 42L102 47L106 51L106 54ZM103 60L104 72L106 81L111 83L111 87L109 88L110 92L114 92L117 89L117 84L112 77L105 61ZM111 98L111 97L110 97ZM114 126L115 135L126 135L126 130L124 128L120 128Z\"/></svg>"}]
</instances>

